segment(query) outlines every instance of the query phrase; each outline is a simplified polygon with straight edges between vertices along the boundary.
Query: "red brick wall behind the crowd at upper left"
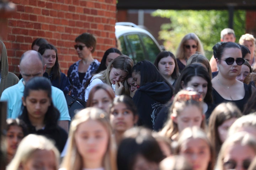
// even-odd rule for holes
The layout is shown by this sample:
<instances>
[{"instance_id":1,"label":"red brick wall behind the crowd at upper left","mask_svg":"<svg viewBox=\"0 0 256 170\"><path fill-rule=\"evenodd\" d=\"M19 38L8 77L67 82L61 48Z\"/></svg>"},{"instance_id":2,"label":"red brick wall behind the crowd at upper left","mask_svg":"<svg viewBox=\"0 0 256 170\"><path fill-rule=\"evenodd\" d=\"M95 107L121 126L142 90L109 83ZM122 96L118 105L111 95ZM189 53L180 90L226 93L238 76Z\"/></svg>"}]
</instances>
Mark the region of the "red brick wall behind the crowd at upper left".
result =
<instances>
[{"instance_id":1,"label":"red brick wall behind the crowd at upper left","mask_svg":"<svg viewBox=\"0 0 256 170\"><path fill-rule=\"evenodd\" d=\"M101 61L103 53L116 44L116 0L9 0L17 11L8 19L8 32L2 37L8 55L9 71L18 74L23 52L32 41L45 38L58 50L59 63L66 74L79 58L75 38L84 32L97 38L92 54Z\"/></svg>"}]
</instances>

